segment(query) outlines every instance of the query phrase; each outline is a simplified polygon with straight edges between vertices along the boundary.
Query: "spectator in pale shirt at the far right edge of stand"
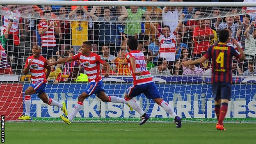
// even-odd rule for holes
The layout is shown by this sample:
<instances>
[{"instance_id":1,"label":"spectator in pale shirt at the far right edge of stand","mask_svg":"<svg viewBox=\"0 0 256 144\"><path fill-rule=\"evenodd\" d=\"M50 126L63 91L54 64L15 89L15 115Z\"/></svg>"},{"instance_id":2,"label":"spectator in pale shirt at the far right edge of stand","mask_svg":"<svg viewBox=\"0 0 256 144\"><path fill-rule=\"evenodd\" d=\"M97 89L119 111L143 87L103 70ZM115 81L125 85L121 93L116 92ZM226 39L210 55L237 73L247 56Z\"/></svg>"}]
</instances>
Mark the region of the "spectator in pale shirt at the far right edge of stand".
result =
<instances>
[{"instance_id":1,"label":"spectator in pale shirt at the far right edge of stand","mask_svg":"<svg viewBox=\"0 0 256 144\"><path fill-rule=\"evenodd\" d=\"M256 54L256 29L254 28L252 34L249 34L251 27L255 25L255 22L251 22L251 25L245 30L245 56L251 57L255 61Z\"/></svg>"}]
</instances>

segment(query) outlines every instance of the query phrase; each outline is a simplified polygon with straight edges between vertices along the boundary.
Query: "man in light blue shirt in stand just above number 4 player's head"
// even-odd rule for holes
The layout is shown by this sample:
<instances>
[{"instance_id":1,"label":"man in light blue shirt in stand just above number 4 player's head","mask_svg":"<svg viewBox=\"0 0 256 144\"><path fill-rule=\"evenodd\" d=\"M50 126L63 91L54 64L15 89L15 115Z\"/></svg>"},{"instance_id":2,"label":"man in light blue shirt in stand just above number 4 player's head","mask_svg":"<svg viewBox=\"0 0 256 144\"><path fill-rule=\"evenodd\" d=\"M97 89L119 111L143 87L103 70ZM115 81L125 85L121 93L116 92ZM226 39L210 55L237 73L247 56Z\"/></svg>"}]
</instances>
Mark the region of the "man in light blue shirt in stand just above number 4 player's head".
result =
<instances>
[{"instance_id":1,"label":"man in light blue shirt in stand just above number 4 player's head","mask_svg":"<svg viewBox=\"0 0 256 144\"><path fill-rule=\"evenodd\" d=\"M233 16L227 16L225 18L226 23L220 23L221 19L217 19L218 21L216 23L214 23L214 27L217 29L217 32L219 32L220 30L223 30L225 27L230 27L232 30L232 34L231 37L232 38L236 38L236 32L238 30L238 26L241 25L241 21L240 18L237 19L237 17L235 17L236 20L238 20L238 23L234 23L234 17Z\"/></svg>"}]
</instances>

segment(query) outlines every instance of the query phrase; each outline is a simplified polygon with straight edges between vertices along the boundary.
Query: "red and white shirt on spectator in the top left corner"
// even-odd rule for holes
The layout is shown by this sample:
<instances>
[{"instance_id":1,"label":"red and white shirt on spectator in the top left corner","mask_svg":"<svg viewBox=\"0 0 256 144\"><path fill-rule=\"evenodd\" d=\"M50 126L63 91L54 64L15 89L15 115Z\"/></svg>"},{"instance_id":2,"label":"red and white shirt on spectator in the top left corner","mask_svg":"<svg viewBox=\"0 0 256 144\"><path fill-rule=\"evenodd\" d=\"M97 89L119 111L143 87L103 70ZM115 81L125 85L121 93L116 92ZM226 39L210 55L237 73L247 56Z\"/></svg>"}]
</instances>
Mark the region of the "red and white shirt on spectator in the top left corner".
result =
<instances>
[{"instance_id":1,"label":"red and white shirt on spectator in the top left corner","mask_svg":"<svg viewBox=\"0 0 256 144\"><path fill-rule=\"evenodd\" d=\"M11 16L11 11L9 8L6 7L4 7L2 10L6 11L6 14L4 16L5 21L3 25L6 30L10 22L9 16ZM18 32L19 23L22 23L21 13L16 9L16 11L13 11L13 15L15 16L16 20L13 20L10 32Z\"/></svg>"}]
</instances>

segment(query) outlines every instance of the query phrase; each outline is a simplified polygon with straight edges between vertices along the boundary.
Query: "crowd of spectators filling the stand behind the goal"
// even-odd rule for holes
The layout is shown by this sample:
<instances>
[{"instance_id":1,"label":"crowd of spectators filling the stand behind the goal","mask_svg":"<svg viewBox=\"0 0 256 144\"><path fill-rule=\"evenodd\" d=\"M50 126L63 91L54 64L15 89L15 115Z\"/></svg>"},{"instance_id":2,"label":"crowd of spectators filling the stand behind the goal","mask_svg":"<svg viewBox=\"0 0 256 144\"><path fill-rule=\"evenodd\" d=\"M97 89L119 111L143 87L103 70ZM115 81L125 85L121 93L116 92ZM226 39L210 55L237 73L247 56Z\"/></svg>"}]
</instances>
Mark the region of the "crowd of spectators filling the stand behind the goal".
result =
<instances>
[{"instance_id":1,"label":"crowd of spectators filling the stand behind the goal","mask_svg":"<svg viewBox=\"0 0 256 144\"><path fill-rule=\"evenodd\" d=\"M183 67L181 62L201 57L218 43L219 30L227 29L228 45L241 47L249 59L245 62L233 59L233 75L256 75L255 16L238 14L238 9L230 9L228 16L222 18L218 17L221 10L212 8L212 19L203 18L206 10L199 7L34 5L30 17L26 18L21 17L17 5L0 6L0 10L0 73L18 74L16 70L23 69L19 44L20 39L29 37L31 47L41 46L41 55L49 61L80 53L82 42L90 41L92 51L111 64L110 74L130 75L128 66L121 63L126 61L127 40L135 37L152 75L210 75L210 59L189 67ZM247 8L241 11L246 12ZM51 71L48 80L54 83L82 75L80 62L53 66ZM104 66L101 72L104 75ZM69 76L62 78L61 75Z\"/></svg>"}]
</instances>

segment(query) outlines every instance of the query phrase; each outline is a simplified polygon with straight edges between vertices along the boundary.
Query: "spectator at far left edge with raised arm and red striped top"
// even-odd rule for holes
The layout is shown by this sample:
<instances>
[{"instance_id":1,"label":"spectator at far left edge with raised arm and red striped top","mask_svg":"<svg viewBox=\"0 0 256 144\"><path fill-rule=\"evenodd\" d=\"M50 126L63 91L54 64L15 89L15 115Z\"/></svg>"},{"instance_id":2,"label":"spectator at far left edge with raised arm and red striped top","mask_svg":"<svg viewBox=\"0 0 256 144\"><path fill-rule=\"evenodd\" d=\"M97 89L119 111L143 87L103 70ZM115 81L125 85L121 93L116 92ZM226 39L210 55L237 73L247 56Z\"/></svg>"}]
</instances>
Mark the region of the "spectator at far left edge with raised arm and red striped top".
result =
<instances>
[{"instance_id":1,"label":"spectator at far left edge with raised arm and red striped top","mask_svg":"<svg viewBox=\"0 0 256 144\"><path fill-rule=\"evenodd\" d=\"M11 66L7 60L7 54L5 53L5 48L2 42L6 42L6 38L8 37L9 31L11 29L13 20L10 19L9 24L7 25L7 29L2 36L0 36L0 74L13 74Z\"/></svg>"}]
</instances>

